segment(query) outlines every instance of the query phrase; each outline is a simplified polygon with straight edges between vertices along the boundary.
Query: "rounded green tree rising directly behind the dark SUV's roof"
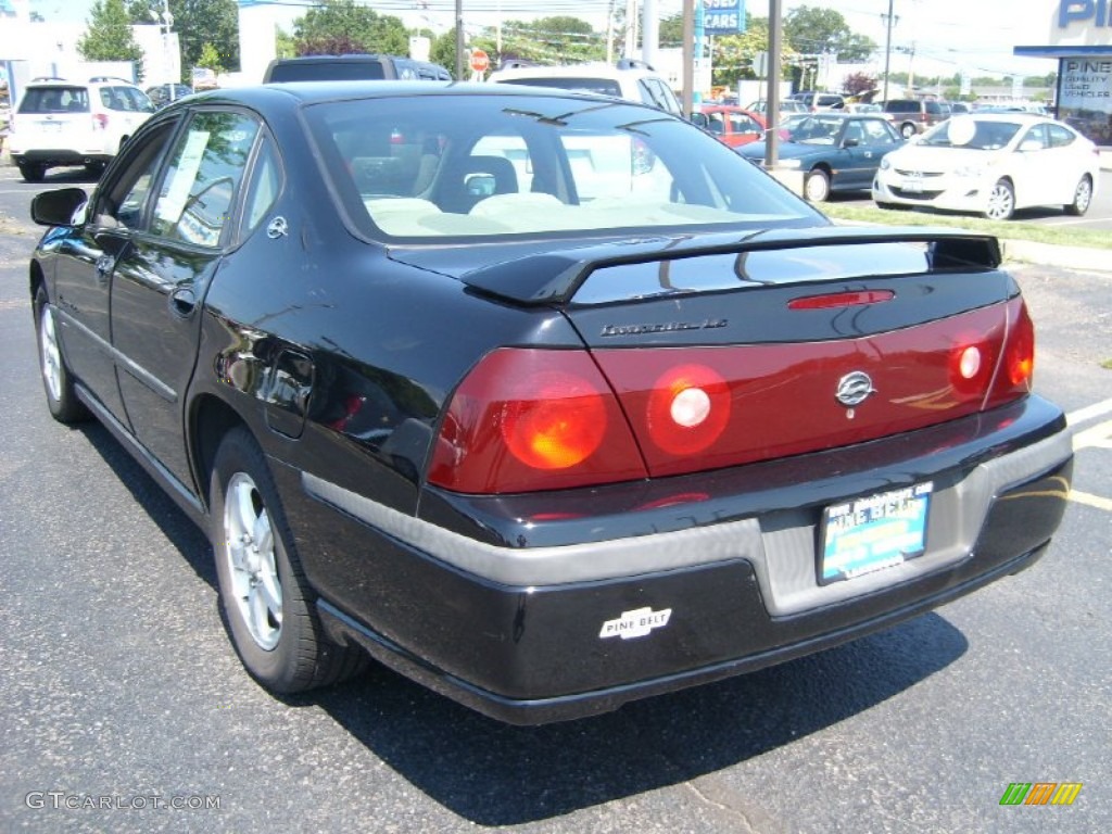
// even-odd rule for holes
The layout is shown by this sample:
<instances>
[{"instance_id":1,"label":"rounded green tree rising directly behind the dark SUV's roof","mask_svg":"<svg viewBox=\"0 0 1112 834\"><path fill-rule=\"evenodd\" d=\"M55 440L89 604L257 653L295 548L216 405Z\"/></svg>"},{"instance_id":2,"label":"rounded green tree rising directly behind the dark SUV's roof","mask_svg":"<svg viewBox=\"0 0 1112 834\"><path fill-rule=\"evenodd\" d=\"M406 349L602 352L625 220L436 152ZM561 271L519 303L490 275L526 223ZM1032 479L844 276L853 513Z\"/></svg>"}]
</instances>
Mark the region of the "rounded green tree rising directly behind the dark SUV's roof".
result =
<instances>
[{"instance_id":1,"label":"rounded green tree rising directly behind the dark SUV's roof","mask_svg":"<svg viewBox=\"0 0 1112 834\"><path fill-rule=\"evenodd\" d=\"M298 54L409 51L409 32L399 18L355 0L324 0L294 21L294 40Z\"/></svg>"}]
</instances>

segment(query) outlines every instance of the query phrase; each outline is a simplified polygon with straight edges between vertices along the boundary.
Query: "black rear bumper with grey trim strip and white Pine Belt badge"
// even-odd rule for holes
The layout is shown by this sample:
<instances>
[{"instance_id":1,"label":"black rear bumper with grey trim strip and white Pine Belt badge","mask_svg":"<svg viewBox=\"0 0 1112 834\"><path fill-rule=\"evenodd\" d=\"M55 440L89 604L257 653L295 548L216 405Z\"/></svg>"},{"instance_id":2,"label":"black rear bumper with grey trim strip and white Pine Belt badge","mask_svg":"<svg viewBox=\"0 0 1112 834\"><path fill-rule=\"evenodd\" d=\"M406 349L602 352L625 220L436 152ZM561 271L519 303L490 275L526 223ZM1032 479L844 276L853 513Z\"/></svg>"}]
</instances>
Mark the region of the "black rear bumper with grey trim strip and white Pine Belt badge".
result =
<instances>
[{"instance_id":1,"label":"black rear bumper with grey trim strip and white Pine Belt badge","mask_svg":"<svg viewBox=\"0 0 1112 834\"><path fill-rule=\"evenodd\" d=\"M1071 471L1061 413L1030 397L854 449L664 479L682 488L677 503L641 513L618 506L620 488L539 497L552 522L530 520L538 496L440 496L427 502L434 524L299 479L340 510L330 524L374 544L309 568L329 634L479 712L535 724L834 646L1015 573L1061 522ZM935 485L927 552L820 586L823 508L923 480ZM594 512L563 512L575 500Z\"/></svg>"}]
</instances>

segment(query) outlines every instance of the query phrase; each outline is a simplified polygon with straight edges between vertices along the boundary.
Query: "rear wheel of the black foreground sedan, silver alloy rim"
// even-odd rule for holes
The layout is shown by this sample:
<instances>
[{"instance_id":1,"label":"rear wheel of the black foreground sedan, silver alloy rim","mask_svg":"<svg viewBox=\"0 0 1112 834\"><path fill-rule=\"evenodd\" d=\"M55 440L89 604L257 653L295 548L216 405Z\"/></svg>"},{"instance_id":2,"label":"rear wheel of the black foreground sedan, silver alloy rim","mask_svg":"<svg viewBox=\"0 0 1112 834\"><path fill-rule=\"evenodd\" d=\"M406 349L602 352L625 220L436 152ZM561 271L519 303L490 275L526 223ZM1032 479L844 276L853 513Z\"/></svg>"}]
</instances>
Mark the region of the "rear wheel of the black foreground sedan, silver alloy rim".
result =
<instances>
[{"instance_id":1,"label":"rear wheel of the black foreground sedan, silver alloy rim","mask_svg":"<svg viewBox=\"0 0 1112 834\"><path fill-rule=\"evenodd\" d=\"M220 604L251 676L292 694L359 672L366 655L324 634L266 458L246 429L220 443L210 495Z\"/></svg>"}]
</instances>

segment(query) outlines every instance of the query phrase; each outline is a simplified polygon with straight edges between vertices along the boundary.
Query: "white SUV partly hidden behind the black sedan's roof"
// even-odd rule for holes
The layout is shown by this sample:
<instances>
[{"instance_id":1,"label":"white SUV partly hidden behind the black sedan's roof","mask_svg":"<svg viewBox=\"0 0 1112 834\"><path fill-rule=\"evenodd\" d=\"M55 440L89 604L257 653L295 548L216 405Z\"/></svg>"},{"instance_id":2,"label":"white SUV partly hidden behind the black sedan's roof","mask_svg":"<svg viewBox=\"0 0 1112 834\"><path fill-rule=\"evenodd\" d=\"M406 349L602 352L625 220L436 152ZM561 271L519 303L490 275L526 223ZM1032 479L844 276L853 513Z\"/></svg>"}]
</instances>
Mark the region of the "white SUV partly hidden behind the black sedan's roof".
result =
<instances>
[{"instance_id":1,"label":"white SUV partly hidden behind the black sedan's roof","mask_svg":"<svg viewBox=\"0 0 1112 834\"><path fill-rule=\"evenodd\" d=\"M617 66L608 63L573 63L563 67L538 67L512 63L490 73L490 80L504 85L557 87L602 96L639 101L674 116L683 109L676 93L653 68L643 61L623 58Z\"/></svg>"}]
</instances>

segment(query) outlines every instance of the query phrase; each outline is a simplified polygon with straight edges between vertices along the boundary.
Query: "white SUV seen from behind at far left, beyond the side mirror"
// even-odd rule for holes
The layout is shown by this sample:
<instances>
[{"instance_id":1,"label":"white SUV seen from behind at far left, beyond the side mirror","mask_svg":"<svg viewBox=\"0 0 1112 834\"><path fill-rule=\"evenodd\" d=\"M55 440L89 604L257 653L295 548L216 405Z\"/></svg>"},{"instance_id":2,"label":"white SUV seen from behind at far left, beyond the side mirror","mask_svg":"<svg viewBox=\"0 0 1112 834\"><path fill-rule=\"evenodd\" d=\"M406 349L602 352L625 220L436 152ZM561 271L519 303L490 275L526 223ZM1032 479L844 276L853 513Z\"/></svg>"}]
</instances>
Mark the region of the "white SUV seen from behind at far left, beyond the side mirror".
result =
<instances>
[{"instance_id":1,"label":"white SUV seen from behind at far left, beyond the side mirror","mask_svg":"<svg viewBox=\"0 0 1112 834\"><path fill-rule=\"evenodd\" d=\"M147 93L120 79L32 81L11 113L11 158L28 182L63 165L99 175L152 112Z\"/></svg>"}]
</instances>

